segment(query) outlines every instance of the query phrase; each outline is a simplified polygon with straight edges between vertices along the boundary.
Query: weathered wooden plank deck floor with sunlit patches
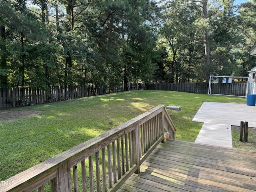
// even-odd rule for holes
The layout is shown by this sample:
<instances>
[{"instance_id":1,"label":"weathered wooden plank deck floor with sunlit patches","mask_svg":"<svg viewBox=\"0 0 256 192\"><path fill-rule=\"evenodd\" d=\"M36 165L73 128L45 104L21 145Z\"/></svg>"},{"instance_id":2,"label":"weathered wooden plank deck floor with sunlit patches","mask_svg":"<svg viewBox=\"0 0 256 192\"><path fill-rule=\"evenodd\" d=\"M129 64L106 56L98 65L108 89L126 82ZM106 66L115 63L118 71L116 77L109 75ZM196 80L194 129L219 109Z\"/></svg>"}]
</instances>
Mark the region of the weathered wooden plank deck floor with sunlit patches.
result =
<instances>
[{"instance_id":1,"label":"weathered wooden plank deck floor with sunlit patches","mask_svg":"<svg viewBox=\"0 0 256 192\"><path fill-rule=\"evenodd\" d=\"M256 192L256 151L169 140L118 192Z\"/></svg>"}]
</instances>

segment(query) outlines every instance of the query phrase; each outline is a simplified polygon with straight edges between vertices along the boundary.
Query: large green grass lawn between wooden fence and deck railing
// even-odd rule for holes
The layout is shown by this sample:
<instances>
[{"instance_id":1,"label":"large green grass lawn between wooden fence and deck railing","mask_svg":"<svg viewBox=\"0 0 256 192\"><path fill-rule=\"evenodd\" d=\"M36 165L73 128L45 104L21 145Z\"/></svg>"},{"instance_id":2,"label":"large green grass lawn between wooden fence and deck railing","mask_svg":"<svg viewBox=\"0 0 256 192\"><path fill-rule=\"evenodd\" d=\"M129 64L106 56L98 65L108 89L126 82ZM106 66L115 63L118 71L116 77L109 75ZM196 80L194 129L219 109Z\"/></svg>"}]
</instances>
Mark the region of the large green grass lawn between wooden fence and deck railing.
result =
<instances>
[{"instance_id":1,"label":"large green grass lawn between wooden fence and deck railing","mask_svg":"<svg viewBox=\"0 0 256 192\"><path fill-rule=\"evenodd\" d=\"M168 110L178 140L194 142L202 123L192 122L204 101L246 103L245 98L172 91L132 91L8 110L20 119L1 118L0 181L85 142L159 104ZM29 113L28 113L29 111ZM34 116L26 116L26 113ZM10 113L11 114L11 113Z\"/></svg>"}]
</instances>

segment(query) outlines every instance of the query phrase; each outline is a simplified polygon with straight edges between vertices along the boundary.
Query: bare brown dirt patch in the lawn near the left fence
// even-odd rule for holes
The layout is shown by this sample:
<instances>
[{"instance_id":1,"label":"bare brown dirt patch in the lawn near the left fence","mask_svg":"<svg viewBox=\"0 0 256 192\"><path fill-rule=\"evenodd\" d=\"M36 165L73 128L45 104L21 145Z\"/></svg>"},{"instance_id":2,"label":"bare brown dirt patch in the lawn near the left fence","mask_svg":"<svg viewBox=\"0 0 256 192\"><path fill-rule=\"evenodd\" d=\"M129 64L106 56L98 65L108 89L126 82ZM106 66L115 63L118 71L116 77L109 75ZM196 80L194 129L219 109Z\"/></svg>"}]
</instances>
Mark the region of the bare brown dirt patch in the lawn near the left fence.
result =
<instances>
[{"instance_id":1,"label":"bare brown dirt patch in the lawn near the left fence","mask_svg":"<svg viewBox=\"0 0 256 192\"><path fill-rule=\"evenodd\" d=\"M12 110L1 110L0 111L0 121L13 121L23 117L31 117L40 115L42 111L24 109L21 111L12 111Z\"/></svg>"}]
</instances>

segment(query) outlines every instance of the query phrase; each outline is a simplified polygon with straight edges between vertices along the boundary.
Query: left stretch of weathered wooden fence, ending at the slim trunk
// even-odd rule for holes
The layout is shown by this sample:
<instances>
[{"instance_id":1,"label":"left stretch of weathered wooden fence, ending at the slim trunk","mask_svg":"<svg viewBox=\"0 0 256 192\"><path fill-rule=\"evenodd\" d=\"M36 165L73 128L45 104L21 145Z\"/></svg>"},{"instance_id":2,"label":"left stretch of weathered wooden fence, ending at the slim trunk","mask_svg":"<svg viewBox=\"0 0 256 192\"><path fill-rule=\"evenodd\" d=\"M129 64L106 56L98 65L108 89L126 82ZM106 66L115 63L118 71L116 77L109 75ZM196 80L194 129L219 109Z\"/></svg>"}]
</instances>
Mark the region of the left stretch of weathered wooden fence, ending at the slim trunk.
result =
<instances>
[{"instance_id":1,"label":"left stretch of weathered wooden fence, ending at the slim trunk","mask_svg":"<svg viewBox=\"0 0 256 192\"><path fill-rule=\"evenodd\" d=\"M11 88L10 90L0 90L0 108L43 104L120 91L123 91L122 85L115 86L115 88L113 86L102 88L96 85L52 86L49 91L32 88Z\"/></svg>"}]
</instances>

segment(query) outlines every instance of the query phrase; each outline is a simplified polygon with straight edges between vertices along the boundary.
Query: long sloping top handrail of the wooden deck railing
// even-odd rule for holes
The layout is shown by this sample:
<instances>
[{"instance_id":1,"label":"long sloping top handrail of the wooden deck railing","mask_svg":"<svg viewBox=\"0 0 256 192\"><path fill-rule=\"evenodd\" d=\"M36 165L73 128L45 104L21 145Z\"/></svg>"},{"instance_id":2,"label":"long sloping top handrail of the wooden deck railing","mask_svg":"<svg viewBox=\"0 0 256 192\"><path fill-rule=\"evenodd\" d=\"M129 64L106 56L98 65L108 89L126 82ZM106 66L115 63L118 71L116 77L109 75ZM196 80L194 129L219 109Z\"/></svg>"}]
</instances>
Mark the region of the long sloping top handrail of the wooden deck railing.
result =
<instances>
[{"instance_id":1,"label":"long sloping top handrail of the wooden deck railing","mask_svg":"<svg viewBox=\"0 0 256 192\"><path fill-rule=\"evenodd\" d=\"M9 191L9 190L19 190L27 183L34 182L46 175L52 174L62 164L65 164L66 162L72 161L76 158L79 158L82 156L84 158L84 154L87 154L88 156L91 154L94 154L98 150L104 148L120 136L126 134L132 128L139 123L140 121L145 120L149 116L152 116L153 114L158 114L163 111L163 108L165 105L159 105L119 126L116 128L113 128L100 136L97 136L95 138L92 138L91 140L88 140L78 146L75 146L71 148L70 150L67 150L65 152L62 152L61 154L58 154L57 156L54 156L28 170L25 170L24 172L21 172L9 179L7 179L6 183L11 183L12 185L0 185L0 191Z\"/></svg>"}]
</instances>

